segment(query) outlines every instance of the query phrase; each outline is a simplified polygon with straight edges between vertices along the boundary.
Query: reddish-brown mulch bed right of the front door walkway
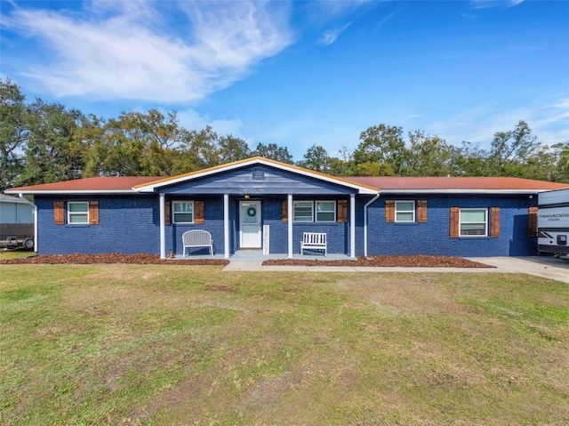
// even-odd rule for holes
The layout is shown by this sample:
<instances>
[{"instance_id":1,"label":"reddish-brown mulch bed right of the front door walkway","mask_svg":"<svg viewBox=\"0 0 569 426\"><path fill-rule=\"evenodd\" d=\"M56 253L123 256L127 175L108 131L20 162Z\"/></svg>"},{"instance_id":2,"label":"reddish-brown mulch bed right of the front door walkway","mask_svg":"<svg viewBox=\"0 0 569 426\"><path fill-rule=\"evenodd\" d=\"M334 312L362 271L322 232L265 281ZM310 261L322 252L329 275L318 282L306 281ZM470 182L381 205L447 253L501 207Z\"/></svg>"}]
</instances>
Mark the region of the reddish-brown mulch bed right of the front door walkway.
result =
<instances>
[{"instance_id":1,"label":"reddish-brown mulch bed right of the front door walkway","mask_svg":"<svg viewBox=\"0 0 569 426\"><path fill-rule=\"evenodd\" d=\"M477 261L454 256L373 256L357 257L355 261L305 261L301 259L279 259L263 261L263 265L308 265L308 266L383 266L406 268L494 268Z\"/></svg>"}]
</instances>

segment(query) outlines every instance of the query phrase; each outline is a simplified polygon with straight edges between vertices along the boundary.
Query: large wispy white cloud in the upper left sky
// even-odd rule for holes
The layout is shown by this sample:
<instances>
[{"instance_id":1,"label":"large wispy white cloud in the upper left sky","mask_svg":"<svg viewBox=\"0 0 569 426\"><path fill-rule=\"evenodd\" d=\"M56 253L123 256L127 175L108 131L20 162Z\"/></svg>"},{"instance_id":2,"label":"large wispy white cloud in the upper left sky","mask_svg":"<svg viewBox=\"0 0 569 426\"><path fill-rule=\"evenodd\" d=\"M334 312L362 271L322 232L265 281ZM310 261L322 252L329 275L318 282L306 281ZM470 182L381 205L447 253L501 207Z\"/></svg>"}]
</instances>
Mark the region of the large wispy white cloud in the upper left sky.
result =
<instances>
[{"instance_id":1,"label":"large wispy white cloud in the upper left sky","mask_svg":"<svg viewBox=\"0 0 569 426\"><path fill-rule=\"evenodd\" d=\"M160 9L165 5L138 0L94 2L81 12L16 8L3 25L36 37L53 53L25 71L44 92L100 100L200 100L292 43L286 7L180 2L178 16L186 20L180 27L187 31L180 34L180 27L174 32L161 20L169 12Z\"/></svg>"}]
</instances>

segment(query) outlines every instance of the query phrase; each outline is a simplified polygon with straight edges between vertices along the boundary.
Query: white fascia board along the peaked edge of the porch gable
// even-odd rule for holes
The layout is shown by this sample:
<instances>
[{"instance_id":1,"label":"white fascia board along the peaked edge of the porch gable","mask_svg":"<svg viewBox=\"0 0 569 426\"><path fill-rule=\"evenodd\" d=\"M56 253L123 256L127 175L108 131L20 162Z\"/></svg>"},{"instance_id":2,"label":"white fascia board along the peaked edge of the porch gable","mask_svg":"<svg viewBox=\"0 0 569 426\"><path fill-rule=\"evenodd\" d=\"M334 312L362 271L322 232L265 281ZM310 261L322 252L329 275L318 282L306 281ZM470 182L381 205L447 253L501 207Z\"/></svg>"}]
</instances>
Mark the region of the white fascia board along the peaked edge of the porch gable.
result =
<instances>
[{"instance_id":1,"label":"white fascia board along the peaked edge of the porch gable","mask_svg":"<svg viewBox=\"0 0 569 426\"><path fill-rule=\"evenodd\" d=\"M228 172L228 171L231 171L234 169L248 167L250 165L267 165L269 167L273 167L273 168L284 170L284 171L291 172L291 173L304 174L305 176L309 176L309 177L317 179L319 181L327 181L327 182L334 183L336 185L341 185L344 187L357 189L358 194L369 194L369 195L377 194L376 190L367 188L365 186L360 186L357 183L351 183L349 181L336 179L333 176L328 176L325 174L305 172L305 171L302 171L302 170L300 170L296 167L293 167L293 166L289 167L286 165L280 165L280 164L276 164L276 163L273 163L271 161L265 161L262 159L254 159L251 161L244 161L242 163L236 163L236 164L225 165L225 166L221 166L221 167L217 167L217 168L206 169L206 170L204 170L204 172L191 173L189 175L180 176L179 178L173 178L173 179L169 179L169 180L158 181L154 184L149 184L149 185L141 185L137 188L134 188L134 190L136 192L153 192L155 189L159 189L159 188L162 188L164 186L175 185L176 183L180 183L180 182L184 182L184 181L194 181L196 179L200 179L200 178L209 176L211 174Z\"/></svg>"}]
</instances>

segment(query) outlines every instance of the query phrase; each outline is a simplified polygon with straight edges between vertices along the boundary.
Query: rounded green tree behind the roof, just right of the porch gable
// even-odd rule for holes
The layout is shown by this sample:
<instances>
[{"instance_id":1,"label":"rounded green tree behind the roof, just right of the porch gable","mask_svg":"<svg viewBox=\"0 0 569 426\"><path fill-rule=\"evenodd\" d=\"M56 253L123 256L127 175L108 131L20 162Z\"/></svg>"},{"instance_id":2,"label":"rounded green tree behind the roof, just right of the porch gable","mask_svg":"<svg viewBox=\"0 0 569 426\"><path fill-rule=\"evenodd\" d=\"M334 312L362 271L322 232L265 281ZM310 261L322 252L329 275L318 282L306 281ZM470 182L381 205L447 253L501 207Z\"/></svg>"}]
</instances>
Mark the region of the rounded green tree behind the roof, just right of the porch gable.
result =
<instances>
[{"instance_id":1,"label":"rounded green tree behind the roof, just right of the porch gable","mask_svg":"<svg viewBox=\"0 0 569 426\"><path fill-rule=\"evenodd\" d=\"M354 151L357 165L379 163L378 173L405 174L408 151L401 127L375 125L362 132L359 139L361 142ZM365 170L371 169L366 166Z\"/></svg>"}]
</instances>

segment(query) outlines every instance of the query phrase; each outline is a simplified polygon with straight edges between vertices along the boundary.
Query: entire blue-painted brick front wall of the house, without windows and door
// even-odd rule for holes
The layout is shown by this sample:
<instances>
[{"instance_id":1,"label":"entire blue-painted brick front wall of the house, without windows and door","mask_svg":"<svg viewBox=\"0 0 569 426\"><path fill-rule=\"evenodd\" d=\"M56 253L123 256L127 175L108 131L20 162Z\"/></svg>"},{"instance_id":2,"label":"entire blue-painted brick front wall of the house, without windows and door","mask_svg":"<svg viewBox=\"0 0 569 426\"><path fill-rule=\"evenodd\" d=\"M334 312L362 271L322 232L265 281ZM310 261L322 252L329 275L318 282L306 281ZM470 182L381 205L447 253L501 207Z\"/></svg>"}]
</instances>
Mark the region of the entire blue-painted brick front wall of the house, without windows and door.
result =
<instances>
[{"instance_id":1,"label":"entire blue-painted brick front wall of the house, without windows and door","mask_svg":"<svg viewBox=\"0 0 569 426\"><path fill-rule=\"evenodd\" d=\"M319 199L318 197L314 197ZM204 224L166 227L166 252L182 251L181 235L188 229L212 233L215 252L222 254L223 197L172 197L204 201ZM263 225L270 227L270 253L288 253L288 224L282 221L285 199L261 197ZM298 198L295 198L298 199ZM325 199L333 199L325 197ZM356 253L364 254L364 205L371 197L357 199ZM387 199L427 200L426 223L386 223ZM99 201L99 225L55 225L53 201ZM157 195L44 197L37 196L40 254L154 253L160 252L159 201ZM536 238L527 237L527 213L535 199L527 196L381 196L368 208L368 255L439 254L461 257L524 256L536 253ZM451 207L500 207L501 233L491 237L450 237ZM238 198L229 197L229 252L238 250ZM67 219L67 218L66 218ZM299 253L302 232L326 232L328 252L349 254L349 223L294 223L293 253ZM195 252L196 253L196 252ZM207 253L204 250L204 253Z\"/></svg>"}]
</instances>

